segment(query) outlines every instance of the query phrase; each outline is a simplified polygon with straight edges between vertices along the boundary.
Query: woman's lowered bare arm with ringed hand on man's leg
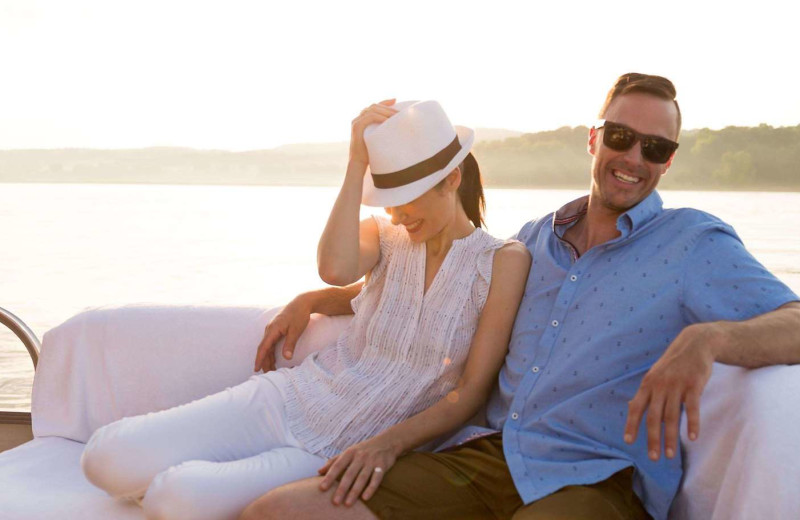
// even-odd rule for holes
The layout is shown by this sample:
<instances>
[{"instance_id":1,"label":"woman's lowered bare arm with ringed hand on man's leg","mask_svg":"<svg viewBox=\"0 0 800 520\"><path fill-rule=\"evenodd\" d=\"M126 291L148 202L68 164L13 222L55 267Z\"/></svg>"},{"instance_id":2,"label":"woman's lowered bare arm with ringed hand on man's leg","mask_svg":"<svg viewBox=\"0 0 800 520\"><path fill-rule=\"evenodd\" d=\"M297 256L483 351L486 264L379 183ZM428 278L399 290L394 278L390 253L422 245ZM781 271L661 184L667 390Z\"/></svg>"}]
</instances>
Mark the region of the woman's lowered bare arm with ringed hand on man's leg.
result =
<instances>
[{"instance_id":1,"label":"woman's lowered bare arm with ringed hand on man's leg","mask_svg":"<svg viewBox=\"0 0 800 520\"><path fill-rule=\"evenodd\" d=\"M489 295L458 386L430 408L328 460L320 469L325 474L320 487L327 490L341 475L333 496L335 504L341 503L345 494L347 505L359 495L368 500L397 457L463 424L486 402L508 351L530 264L530 253L519 242L497 251Z\"/></svg>"}]
</instances>

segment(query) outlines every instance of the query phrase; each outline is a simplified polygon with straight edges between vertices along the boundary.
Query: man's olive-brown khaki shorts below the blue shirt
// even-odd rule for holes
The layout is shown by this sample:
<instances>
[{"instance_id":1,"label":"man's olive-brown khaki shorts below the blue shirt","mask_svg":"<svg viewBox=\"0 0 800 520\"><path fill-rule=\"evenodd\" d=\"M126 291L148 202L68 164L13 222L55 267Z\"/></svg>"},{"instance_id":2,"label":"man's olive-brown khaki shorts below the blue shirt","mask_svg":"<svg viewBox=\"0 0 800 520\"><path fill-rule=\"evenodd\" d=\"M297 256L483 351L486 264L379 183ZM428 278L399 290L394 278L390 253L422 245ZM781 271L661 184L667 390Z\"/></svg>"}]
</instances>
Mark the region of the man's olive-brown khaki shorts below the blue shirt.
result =
<instances>
[{"instance_id":1,"label":"man's olive-brown khaki shorts below the blue shirt","mask_svg":"<svg viewBox=\"0 0 800 520\"><path fill-rule=\"evenodd\" d=\"M440 453L400 458L365 504L381 519L649 519L633 492L633 468L567 486L527 506L514 487L501 434Z\"/></svg>"}]
</instances>

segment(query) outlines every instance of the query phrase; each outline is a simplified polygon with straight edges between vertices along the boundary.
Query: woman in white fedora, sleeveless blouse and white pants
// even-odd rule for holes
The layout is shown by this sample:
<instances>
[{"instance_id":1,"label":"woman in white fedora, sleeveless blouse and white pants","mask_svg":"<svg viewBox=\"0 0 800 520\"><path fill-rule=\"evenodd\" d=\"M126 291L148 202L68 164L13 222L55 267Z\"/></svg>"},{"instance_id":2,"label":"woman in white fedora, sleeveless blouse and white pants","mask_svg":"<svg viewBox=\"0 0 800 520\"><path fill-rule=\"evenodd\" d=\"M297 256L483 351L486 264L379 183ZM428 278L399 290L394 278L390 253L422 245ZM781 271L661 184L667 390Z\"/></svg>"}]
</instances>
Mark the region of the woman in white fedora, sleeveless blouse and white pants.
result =
<instances>
[{"instance_id":1,"label":"woman in white fedora, sleeveless blouse and white pants","mask_svg":"<svg viewBox=\"0 0 800 520\"><path fill-rule=\"evenodd\" d=\"M235 518L321 466L343 475L351 501L370 496L399 454L473 416L503 362L530 255L480 229L472 141L435 102L365 109L318 250L325 281L367 276L337 344L99 429L81 460L87 478L115 497L144 496L149 518ZM362 201L392 222L359 223Z\"/></svg>"}]
</instances>

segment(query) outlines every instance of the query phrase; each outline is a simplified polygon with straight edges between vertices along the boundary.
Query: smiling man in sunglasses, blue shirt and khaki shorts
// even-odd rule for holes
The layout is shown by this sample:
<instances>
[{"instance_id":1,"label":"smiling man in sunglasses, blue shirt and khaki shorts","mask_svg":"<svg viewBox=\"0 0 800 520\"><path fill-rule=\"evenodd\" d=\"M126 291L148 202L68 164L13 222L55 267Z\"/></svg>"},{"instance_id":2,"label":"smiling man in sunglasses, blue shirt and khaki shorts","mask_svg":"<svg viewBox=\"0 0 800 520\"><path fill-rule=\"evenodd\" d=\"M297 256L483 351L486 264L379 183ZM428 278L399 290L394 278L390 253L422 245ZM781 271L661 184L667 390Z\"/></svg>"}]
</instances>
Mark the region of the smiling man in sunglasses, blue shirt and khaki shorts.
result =
<instances>
[{"instance_id":1,"label":"smiling man in sunglasses, blue shirt and khaki shorts","mask_svg":"<svg viewBox=\"0 0 800 520\"><path fill-rule=\"evenodd\" d=\"M715 361L800 361L800 304L730 226L662 208L681 125L669 80L621 76L600 117L589 196L517 235L533 265L489 428L467 432L483 436L401 457L367 500L344 495L350 476L325 492L310 479L243 518L666 518L682 407L695 439ZM299 297L262 350L280 335L291 349L310 310L344 313L354 290Z\"/></svg>"}]
</instances>

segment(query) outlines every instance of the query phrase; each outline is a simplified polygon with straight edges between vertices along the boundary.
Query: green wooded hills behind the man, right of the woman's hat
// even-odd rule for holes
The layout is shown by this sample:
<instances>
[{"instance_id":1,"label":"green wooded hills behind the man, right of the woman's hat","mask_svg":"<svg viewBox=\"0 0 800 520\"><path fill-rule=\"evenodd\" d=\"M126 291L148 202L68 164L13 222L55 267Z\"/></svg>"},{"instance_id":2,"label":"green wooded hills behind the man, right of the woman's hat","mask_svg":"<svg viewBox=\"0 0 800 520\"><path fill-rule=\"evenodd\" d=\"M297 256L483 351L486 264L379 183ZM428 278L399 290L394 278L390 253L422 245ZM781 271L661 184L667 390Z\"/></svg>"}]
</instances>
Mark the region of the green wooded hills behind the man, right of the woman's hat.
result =
<instances>
[{"instance_id":1,"label":"green wooded hills behind the man, right of the woman's hat","mask_svg":"<svg viewBox=\"0 0 800 520\"><path fill-rule=\"evenodd\" d=\"M478 143L487 185L587 187L589 129L559 128ZM661 187L800 190L800 125L688 130Z\"/></svg>"}]
</instances>

